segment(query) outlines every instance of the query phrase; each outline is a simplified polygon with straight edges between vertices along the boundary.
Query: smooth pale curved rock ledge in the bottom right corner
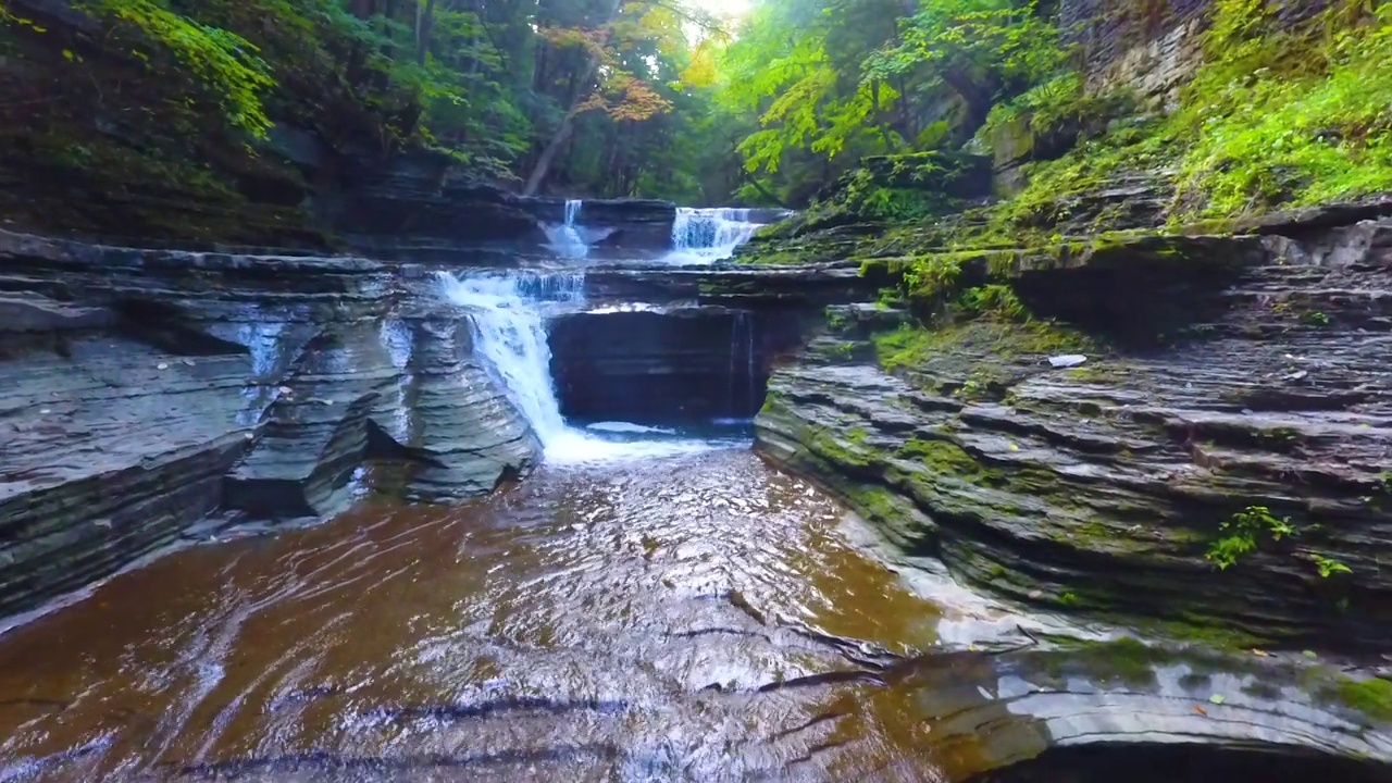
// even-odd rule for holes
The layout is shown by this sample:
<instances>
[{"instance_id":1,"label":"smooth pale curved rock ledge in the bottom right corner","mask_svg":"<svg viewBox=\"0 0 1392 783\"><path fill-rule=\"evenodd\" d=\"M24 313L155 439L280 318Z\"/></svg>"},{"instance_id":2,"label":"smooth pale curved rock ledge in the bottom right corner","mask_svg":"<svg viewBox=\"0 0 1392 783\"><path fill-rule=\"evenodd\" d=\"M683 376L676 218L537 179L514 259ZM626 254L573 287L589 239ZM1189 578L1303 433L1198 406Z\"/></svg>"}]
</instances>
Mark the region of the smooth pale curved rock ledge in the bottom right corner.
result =
<instances>
[{"instance_id":1,"label":"smooth pale curved rock ledge in the bottom right corner","mask_svg":"<svg viewBox=\"0 0 1392 783\"><path fill-rule=\"evenodd\" d=\"M1360 698L1386 683L1320 666L1122 639L927 656L894 685L945 780L1371 783L1392 762L1392 715Z\"/></svg>"}]
</instances>

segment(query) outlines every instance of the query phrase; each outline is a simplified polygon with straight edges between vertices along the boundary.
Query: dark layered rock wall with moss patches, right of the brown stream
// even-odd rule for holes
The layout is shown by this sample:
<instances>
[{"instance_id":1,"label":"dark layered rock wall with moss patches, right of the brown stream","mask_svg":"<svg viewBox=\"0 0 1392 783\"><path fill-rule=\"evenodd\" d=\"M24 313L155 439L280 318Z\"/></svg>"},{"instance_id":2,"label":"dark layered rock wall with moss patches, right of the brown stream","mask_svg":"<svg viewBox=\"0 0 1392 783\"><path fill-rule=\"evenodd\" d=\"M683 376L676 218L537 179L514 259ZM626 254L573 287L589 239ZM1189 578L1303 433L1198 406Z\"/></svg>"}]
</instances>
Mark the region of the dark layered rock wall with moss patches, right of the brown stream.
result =
<instances>
[{"instance_id":1,"label":"dark layered rock wall with moss patches, right of the brown stream","mask_svg":"<svg viewBox=\"0 0 1392 783\"><path fill-rule=\"evenodd\" d=\"M1098 340L986 318L888 373L864 330L831 334L773 375L759 447L1019 602L1386 649L1389 237L1366 222L1020 265L1036 313ZM1256 550L1219 571L1207 556L1243 513Z\"/></svg>"}]
</instances>

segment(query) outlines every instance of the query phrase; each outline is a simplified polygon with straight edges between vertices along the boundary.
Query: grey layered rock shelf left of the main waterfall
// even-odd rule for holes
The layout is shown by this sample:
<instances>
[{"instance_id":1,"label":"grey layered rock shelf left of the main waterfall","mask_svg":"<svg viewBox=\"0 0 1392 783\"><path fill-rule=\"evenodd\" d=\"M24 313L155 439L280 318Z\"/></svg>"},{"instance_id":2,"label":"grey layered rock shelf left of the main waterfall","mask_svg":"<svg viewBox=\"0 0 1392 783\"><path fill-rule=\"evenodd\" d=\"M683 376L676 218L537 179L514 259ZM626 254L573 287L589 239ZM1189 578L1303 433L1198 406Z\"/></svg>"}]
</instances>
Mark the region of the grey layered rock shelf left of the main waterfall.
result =
<instances>
[{"instance_id":1,"label":"grey layered rock shelf left of the main waterfall","mask_svg":"<svg viewBox=\"0 0 1392 783\"><path fill-rule=\"evenodd\" d=\"M18 234L0 259L0 614L216 511L333 513L367 460L440 497L535 458L462 313L422 312L380 263Z\"/></svg>"}]
</instances>

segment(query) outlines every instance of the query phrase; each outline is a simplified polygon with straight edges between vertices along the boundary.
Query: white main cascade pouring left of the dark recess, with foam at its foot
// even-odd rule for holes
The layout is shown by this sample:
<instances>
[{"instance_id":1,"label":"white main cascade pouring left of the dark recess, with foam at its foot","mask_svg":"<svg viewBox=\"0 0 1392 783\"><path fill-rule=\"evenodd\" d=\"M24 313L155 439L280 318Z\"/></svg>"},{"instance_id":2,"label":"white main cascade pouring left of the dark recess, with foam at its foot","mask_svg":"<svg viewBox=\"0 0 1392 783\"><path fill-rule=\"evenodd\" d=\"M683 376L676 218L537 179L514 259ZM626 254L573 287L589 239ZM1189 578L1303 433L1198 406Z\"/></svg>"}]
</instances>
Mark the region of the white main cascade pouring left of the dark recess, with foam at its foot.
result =
<instances>
[{"instance_id":1,"label":"white main cascade pouring left of the dark recess, with foam at its foot","mask_svg":"<svg viewBox=\"0 0 1392 783\"><path fill-rule=\"evenodd\" d=\"M532 425L548 463L638 458L715 447L690 439L612 440L569 426L551 380L547 318L575 309L585 300L585 277L569 273L487 273L457 277L438 273L445 300L469 311L475 348L497 375L508 398ZM597 426L597 432L618 432ZM665 435L657 428L633 428L628 435Z\"/></svg>"}]
</instances>

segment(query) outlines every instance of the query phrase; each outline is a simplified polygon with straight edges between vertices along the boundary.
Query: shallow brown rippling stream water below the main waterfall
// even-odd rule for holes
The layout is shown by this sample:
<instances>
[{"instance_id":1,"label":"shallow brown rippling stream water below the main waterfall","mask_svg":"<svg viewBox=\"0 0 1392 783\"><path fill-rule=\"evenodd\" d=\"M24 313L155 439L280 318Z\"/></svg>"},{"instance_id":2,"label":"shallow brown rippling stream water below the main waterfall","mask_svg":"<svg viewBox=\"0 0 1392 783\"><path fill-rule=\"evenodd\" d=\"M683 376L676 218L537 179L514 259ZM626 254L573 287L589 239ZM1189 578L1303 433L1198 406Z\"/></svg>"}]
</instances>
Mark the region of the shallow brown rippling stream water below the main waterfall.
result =
<instances>
[{"instance_id":1,"label":"shallow brown rippling stream water below the main waterfall","mask_svg":"<svg viewBox=\"0 0 1392 783\"><path fill-rule=\"evenodd\" d=\"M182 552L0 641L0 780L931 779L883 694L759 691L933 641L841 515L710 450Z\"/></svg>"}]
</instances>

